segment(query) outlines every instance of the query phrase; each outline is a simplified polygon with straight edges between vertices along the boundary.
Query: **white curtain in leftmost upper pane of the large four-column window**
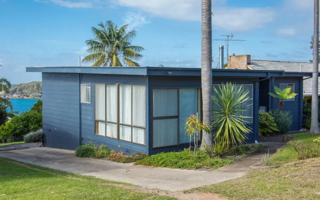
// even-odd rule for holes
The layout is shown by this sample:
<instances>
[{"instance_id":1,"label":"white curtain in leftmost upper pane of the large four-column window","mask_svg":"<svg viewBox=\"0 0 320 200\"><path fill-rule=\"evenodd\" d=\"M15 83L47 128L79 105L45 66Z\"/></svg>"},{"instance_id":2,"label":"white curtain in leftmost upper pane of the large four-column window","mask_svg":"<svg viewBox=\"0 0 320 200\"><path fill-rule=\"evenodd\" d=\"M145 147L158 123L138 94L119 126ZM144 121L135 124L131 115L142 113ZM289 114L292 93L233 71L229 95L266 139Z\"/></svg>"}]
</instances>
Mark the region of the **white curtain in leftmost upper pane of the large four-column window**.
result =
<instances>
[{"instance_id":1,"label":"white curtain in leftmost upper pane of the large four-column window","mask_svg":"<svg viewBox=\"0 0 320 200\"><path fill-rule=\"evenodd\" d=\"M95 84L95 120L105 120L105 84Z\"/></svg>"}]
</instances>

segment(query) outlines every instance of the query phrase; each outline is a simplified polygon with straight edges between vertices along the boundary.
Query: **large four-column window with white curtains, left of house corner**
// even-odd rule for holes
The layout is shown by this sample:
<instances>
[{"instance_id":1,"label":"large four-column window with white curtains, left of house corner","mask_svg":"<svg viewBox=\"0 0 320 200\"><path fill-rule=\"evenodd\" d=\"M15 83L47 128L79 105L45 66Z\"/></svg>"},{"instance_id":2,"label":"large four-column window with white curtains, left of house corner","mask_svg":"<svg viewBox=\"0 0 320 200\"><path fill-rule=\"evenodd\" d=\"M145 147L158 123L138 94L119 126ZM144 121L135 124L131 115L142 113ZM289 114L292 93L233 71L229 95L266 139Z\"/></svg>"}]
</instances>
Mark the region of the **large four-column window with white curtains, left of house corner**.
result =
<instances>
[{"instance_id":1,"label":"large four-column window with white curtains, left of house corner","mask_svg":"<svg viewBox=\"0 0 320 200\"><path fill-rule=\"evenodd\" d=\"M145 144L146 86L95 84L95 134Z\"/></svg>"}]
</instances>

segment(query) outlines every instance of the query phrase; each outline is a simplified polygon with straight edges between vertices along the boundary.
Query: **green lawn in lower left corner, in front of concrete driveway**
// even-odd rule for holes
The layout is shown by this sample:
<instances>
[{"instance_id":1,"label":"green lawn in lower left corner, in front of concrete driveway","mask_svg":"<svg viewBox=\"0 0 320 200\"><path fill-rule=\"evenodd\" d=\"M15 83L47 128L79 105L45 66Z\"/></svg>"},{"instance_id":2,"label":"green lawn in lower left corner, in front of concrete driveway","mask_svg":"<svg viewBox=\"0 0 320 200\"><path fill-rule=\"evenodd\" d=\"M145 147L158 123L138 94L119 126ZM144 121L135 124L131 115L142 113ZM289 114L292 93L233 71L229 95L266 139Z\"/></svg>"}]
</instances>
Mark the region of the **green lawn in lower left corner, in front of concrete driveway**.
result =
<instances>
[{"instance_id":1,"label":"green lawn in lower left corner, in front of concrete driveway","mask_svg":"<svg viewBox=\"0 0 320 200\"><path fill-rule=\"evenodd\" d=\"M131 188L132 187L132 188ZM133 185L53 170L0 157L0 199L157 199Z\"/></svg>"}]
</instances>

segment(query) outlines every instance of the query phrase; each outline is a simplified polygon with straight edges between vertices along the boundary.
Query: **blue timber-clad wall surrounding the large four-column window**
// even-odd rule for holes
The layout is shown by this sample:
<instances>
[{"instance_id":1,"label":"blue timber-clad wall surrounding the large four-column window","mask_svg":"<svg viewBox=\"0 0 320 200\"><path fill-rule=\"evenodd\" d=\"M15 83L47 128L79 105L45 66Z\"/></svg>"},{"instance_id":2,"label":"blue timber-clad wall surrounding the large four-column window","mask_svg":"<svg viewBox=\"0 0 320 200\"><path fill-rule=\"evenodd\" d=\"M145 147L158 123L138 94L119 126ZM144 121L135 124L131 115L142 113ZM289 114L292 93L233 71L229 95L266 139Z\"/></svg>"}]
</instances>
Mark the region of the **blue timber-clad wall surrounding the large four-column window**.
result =
<instances>
[{"instance_id":1,"label":"blue timber-clad wall surrounding the large four-column window","mask_svg":"<svg viewBox=\"0 0 320 200\"><path fill-rule=\"evenodd\" d=\"M91 85L91 103L81 103L81 137L82 144L89 141L95 144L106 144L109 149L123 151L126 154L134 152L148 153L147 145L140 145L115 138L95 134L94 126L94 85L95 84L145 84L147 88L147 77L143 75L107 75L107 74L81 74L81 84ZM147 93L146 93L147 95ZM147 99L146 99L147 100ZM146 102L147 104L147 102ZM146 111L148 108L146 107ZM146 119L147 121L147 119ZM148 139L146 127L146 139ZM147 141L147 140L146 140ZM120 146L120 147L118 147Z\"/></svg>"}]
</instances>

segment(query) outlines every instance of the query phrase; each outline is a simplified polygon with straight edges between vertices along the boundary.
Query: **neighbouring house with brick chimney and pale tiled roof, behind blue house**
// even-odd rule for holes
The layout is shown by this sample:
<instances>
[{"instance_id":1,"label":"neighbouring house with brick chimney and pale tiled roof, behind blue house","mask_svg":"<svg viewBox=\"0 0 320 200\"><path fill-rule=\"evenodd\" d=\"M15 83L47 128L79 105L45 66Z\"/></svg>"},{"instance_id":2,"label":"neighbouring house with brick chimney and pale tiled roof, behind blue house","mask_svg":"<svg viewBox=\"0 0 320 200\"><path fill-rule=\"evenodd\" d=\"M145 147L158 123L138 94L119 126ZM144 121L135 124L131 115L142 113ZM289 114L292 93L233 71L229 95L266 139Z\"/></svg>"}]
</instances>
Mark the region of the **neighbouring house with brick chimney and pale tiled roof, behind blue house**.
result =
<instances>
[{"instance_id":1,"label":"neighbouring house with brick chimney and pale tiled roof, behind blue house","mask_svg":"<svg viewBox=\"0 0 320 200\"><path fill-rule=\"evenodd\" d=\"M228 68L256 69L256 70L283 70L294 72L312 72L312 62L292 62L275 60L250 59L250 55L231 55L228 58ZM320 88L320 81L319 81ZM312 95L312 77L303 78L303 96ZM320 96L320 90L318 95Z\"/></svg>"}]
</instances>

